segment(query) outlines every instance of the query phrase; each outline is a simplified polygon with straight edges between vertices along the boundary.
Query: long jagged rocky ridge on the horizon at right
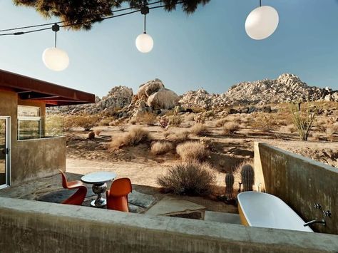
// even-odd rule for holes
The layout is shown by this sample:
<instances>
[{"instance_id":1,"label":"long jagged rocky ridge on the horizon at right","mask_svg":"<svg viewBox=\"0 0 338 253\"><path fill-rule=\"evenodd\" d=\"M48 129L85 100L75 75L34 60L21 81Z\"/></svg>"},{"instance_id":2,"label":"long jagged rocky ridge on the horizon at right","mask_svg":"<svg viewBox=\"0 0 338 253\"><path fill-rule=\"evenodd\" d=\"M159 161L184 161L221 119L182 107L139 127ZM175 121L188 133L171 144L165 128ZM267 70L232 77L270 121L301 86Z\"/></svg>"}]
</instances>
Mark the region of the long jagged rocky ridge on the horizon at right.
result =
<instances>
[{"instance_id":1,"label":"long jagged rocky ridge on the horizon at right","mask_svg":"<svg viewBox=\"0 0 338 253\"><path fill-rule=\"evenodd\" d=\"M180 103L185 108L212 109L231 105L265 105L299 100L338 102L338 92L330 88L307 86L307 83L302 82L298 76L285 73L275 80L237 83L220 95L209 94L203 89L189 91L181 96Z\"/></svg>"}]
</instances>

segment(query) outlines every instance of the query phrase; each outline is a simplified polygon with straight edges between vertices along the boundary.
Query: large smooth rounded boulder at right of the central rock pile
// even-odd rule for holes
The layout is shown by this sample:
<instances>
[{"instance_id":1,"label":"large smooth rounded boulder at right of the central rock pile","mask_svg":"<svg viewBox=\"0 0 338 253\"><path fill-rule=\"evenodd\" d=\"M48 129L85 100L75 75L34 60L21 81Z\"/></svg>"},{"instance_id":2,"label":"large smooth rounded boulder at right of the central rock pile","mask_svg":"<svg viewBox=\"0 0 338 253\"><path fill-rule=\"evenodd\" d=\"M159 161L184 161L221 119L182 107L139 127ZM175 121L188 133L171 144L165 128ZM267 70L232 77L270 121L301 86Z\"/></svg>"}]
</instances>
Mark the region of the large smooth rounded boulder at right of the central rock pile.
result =
<instances>
[{"instance_id":1,"label":"large smooth rounded boulder at right of the central rock pile","mask_svg":"<svg viewBox=\"0 0 338 253\"><path fill-rule=\"evenodd\" d=\"M153 109L171 109L178 105L180 97L173 91L161 88L149 96L147 103Z\"/></svg>"}]
</instances>

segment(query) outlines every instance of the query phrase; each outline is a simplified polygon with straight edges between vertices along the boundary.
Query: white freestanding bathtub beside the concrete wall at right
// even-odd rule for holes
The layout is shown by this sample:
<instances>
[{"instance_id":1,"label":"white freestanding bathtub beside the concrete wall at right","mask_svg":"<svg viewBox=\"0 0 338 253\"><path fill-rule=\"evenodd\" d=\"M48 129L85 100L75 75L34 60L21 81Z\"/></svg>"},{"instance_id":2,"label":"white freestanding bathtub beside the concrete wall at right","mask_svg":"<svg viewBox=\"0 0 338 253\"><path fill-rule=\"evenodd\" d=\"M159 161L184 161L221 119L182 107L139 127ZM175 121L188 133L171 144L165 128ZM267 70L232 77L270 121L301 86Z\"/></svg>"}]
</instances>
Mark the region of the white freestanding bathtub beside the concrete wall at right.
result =
<instances>
[{"instance_id":1,"label":"white freestanding bathtub beside the concrete wall at right","mask_svg":"<svg viewBox=\"0 0 338 253\"><path fill-rule=\"evenodd\" d=\"M263 192L241 192L237 195L242 224L250 227L270 227L313 232L284 201Z\"/></svg>"}]
</instances>

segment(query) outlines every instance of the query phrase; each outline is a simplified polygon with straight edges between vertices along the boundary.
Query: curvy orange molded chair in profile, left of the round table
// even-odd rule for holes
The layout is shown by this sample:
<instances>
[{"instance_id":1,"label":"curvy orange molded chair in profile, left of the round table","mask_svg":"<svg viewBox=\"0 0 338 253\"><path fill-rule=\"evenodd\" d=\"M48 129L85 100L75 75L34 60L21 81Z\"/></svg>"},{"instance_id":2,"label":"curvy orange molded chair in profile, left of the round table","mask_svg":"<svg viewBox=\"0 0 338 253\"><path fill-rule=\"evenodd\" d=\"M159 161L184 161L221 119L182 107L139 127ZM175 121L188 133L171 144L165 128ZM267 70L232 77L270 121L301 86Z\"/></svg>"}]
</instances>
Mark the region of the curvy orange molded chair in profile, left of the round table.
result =
<instances>
[{"instance_id":1,"label":"curvy orange molded chair in profile, left of the round table","mask_svg":"<svg viewBox=\"0 0 338 253\"><path fill-rule=\"evenodd\" d=\"M87 195L87 187L83 185L83 183L79 180L76 181L67 181L66 175L63 173L62 170L58 170L61 173L62 177L62 187L65 189L78 189L71 197L68 197L67 200L63 200L61 202L62 204L68 204L68 205L82 205L83 200L85 199Z\"/></svg>"}]
</instances>

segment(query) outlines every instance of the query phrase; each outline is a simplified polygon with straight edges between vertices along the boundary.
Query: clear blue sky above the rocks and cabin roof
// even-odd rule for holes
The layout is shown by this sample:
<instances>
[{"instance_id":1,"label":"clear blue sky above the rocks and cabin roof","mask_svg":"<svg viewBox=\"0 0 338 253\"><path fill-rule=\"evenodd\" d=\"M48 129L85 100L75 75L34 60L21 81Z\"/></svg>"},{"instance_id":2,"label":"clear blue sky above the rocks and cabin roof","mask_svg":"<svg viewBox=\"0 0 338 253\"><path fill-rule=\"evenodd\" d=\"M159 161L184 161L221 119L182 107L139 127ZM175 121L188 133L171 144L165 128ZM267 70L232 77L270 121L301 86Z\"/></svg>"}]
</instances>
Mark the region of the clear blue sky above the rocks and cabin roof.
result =
<instances>
[{"instance_id":1,"label":"clear blue sky above the rocks and cabin roof","mask_svg":"<svg viewBox=\"0 0 338 253\"><path fill-rule=\"evenodd\" d=\"M280 14L280 26L265 41L244 29L258 0L211 0L195 14L162 9L148 15L154 48L139 53L135 38L141 14L95 24L91 31L60 31L58 47L71 59L66 71L48 70L41 54L53 32L0 37L0 68L63 86L106 95L113 86L138 86L160 78L178 94L205 88L223 93L241 81L295 73L310 86L338 90L338 1L263 0ZM34 9L0 2L0 29L46 22Z\"/></svg>"}]
</instances>

